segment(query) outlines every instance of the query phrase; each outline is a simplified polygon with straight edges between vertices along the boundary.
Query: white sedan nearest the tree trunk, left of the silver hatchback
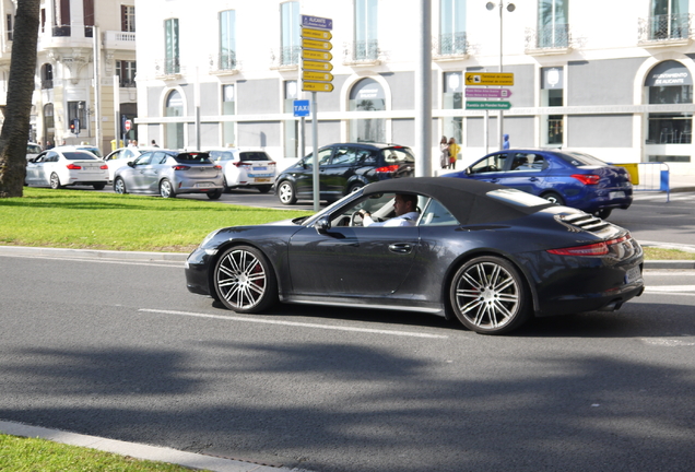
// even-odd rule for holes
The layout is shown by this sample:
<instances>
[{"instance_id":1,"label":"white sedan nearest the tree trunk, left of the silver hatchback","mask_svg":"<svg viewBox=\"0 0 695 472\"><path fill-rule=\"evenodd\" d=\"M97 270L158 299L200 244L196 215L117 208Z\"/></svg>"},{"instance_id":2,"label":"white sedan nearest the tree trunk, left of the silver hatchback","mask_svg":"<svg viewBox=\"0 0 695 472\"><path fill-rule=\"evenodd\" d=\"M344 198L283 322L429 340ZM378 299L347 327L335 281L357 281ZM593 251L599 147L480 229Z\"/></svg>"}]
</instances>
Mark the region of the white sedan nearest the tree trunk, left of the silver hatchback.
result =
<instances>
[{"instance_id":1,"label":"white sedan nearest the tree trunk, left of the silver hatchback","mask_svg":"<svg viewBox=\"0 0 695 472\"><path fill-rule=\"evenodd\" d=\"M102 190L108 182L108 167L91 152L54 148L26 163L24 182L52 189L83 185Z\"/></svg>"}]
</instances>

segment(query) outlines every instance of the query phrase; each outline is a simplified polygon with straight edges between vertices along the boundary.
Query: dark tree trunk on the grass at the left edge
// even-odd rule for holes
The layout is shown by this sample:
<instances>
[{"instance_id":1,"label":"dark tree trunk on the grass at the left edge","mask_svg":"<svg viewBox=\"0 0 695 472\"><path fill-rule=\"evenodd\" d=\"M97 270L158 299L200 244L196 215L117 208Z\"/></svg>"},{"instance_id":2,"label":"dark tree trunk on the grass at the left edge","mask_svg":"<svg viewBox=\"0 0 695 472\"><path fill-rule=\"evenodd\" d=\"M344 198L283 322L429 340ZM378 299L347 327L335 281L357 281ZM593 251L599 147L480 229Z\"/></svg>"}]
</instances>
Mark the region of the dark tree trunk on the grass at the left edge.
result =
<instances>
[{"instance_id":1,"label":"dark tree trunk on the grass at the left edge","mask_svg":"<svg viewBox=\"0 0 695 472\"><path fill-rule=\"evenodd\" d=\"M19 0L14 17L10 80L0 132L0 198L22 197L26 143L36 73L40 0Z\"/></svg>"}]
</instances>

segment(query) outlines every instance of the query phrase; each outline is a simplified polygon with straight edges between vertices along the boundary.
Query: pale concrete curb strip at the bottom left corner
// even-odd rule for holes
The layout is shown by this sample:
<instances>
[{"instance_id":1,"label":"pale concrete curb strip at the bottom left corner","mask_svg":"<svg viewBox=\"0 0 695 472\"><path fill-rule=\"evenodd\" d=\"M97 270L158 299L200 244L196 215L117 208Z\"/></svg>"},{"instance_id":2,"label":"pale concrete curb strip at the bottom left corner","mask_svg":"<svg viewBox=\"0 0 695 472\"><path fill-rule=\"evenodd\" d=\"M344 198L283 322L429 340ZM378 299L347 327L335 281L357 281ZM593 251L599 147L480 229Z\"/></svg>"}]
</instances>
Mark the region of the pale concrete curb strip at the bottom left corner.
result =
<instances>
[{"instance_id":1,"label":"pale concrete curb strip at the bottom left corner","mask_svg":"<svg viewBox=\"0 0 695 472\"><path fill-rule=\"evenodd\" d=\"M136 459L166 462L191 469L209 470L214 472L282 472L298 470L243 462L235 459L224 459L195 452L185 452L165 447L107 439L98 436L68 433L59 429L30 426L14 422L0 421L0 432L12 436L42 438L54 442L86 447L120 456L129 456Z\"/></svg>"}]
</instances>

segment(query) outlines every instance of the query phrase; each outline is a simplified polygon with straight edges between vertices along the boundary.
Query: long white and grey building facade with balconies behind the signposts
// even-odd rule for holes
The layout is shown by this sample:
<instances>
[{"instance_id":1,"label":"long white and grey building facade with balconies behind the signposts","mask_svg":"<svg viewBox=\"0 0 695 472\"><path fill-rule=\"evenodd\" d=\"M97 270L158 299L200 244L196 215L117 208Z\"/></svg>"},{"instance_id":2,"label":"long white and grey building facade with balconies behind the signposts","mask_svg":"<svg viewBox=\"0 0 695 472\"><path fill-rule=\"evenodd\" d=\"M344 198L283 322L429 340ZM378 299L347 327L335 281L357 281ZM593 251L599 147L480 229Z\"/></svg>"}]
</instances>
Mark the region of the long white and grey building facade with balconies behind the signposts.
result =
<instances>
[{"instance_id":1,"label":"long white and grey building facade with balconies behind the signposts","mask_svg":"<svg viewBox=\"0 0 695 472\"><path fill-rule=\"evenodd\" d=\"M472 160L499 145L497 111L467 109L466 72L513 72L511 146L563 148L695 174L690 0L432 1L433 168L441 135ZM299 15L333 20L319 145L414 145L416 0L139 0L141 141L302 153ZM144 35L144 36L143 36ZM470 87L469 87L470 88ZM305 142L311 142L310 127ZM308 146L306 146L308 151Z\"/></svg>"}]
</instances>

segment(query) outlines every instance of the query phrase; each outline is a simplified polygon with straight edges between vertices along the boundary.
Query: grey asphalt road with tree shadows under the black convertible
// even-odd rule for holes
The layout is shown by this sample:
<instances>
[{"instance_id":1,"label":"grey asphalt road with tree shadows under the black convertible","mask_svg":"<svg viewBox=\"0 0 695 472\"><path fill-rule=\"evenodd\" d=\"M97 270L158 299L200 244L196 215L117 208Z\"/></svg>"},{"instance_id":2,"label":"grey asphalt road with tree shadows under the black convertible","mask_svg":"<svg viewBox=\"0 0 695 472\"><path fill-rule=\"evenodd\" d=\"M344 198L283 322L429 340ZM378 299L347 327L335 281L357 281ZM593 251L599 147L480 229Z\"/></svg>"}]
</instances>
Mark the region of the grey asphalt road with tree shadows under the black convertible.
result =
<instances>
[{"instance_id":1,"label":"grey asphalt road with tree shadows under the black convertible","mask_svg":"<svg viewBox=\"0 0 695 472\"><path fill-rule=\"evenodd\" d=\"M484 337L189 294L180 263L0 257L0 418L313 471L695 470L695 271Z\"/></svg>"}]
</instances>

